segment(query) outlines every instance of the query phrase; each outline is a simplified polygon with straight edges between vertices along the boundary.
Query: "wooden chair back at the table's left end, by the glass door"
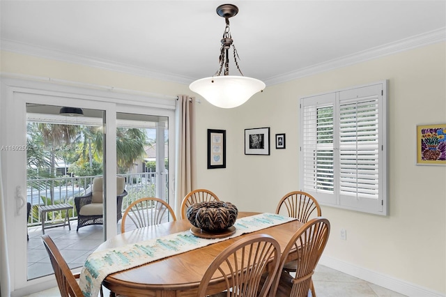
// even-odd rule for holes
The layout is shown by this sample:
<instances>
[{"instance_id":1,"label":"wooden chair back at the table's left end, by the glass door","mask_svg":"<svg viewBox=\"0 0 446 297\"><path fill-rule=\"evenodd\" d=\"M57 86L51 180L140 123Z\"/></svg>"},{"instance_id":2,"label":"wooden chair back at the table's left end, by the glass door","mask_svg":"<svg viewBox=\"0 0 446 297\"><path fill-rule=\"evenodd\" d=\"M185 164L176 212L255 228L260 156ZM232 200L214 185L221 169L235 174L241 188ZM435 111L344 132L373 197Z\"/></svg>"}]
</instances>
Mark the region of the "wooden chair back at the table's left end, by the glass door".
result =
<instances>
[{"instance_id":1,"label":"wooden chair back at the table's left end, by the glass door","mask_svg":"<svg viewBox=\"0 0 446 297\"><path fill-rule=\"evenodd\" d=\"M59 286L59 291L61 291L61 297L84 297L75 276L72 275L54 241L47 234L42 236L42 241L51 260L57 285Z\"/></svg>"}]
</instances>

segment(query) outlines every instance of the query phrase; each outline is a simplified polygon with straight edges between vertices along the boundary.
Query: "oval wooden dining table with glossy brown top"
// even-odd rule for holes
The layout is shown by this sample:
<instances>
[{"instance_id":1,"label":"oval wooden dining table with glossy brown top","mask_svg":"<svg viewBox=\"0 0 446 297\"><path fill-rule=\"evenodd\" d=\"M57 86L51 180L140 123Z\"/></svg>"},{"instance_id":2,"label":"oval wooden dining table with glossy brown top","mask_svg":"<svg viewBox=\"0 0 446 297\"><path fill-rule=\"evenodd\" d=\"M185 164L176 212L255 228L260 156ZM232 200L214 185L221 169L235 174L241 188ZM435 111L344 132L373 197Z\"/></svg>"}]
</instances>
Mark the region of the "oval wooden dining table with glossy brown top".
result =
<instances>
[{"instance_id":1,"label":"oval wooden dining table with glossy brown top","mask_svg":"<svg viewBox=\"0 0 446 297\"><path fill-rule=\"evenodd\" d=\"M238 213L238 218L256 214L258 213L240 212ZM302 222L293 220L249 234L269 234L279 242L281 250L284 250L291 237L302 225ZM135 229L108 239L96 251L118 248L123 245L187 231L191 227L192 224L187 219L183 219ZM231 243L249 234L243 234L225 241L206 245L203 248L197 248L125 271L112 273L105 277L102 285L115 294L123 296L197 296L201 278L213 259L217 257L217 254L231 245ZM290 257L289 260L292 260L292 256ZM218 284L215 284L215 286L218 286Z\"/></svg>"}]
</instances>

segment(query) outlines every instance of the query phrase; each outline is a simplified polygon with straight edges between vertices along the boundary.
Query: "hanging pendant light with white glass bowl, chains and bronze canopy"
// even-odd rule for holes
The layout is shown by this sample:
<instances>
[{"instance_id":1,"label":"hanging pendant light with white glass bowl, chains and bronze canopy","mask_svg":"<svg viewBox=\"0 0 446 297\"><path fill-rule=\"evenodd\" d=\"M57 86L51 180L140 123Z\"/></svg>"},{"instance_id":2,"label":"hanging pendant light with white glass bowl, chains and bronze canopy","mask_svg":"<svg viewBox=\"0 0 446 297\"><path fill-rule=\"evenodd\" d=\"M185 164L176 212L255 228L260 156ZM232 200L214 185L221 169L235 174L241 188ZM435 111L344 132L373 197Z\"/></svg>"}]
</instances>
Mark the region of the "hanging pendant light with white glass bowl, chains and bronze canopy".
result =
<instances>
[{"instance_id":1,"label":"hanging pendant light with white glass bowl, chains and bronze canopy","mask_svg":"<svg viewBox=\"0 0 446 297\"><path fill-rule=\"evenodd\" d=\"M189 89L199 93L210 104L221 108L238 107L245 103L255 93L263 91L266 84L259 79L245 77L238 66L238 53L233 45L229 31L229 17L238 13L238 7L233 4L223 4L217 7L217 15L224 17L226 27L220 48L220 68L213 77L198 79L190 84ZM229 49L233 48L233 57L238 71L242 76L229 75ZM224 70L224 76L220 76Z\"/></svg>"}]
</instances>

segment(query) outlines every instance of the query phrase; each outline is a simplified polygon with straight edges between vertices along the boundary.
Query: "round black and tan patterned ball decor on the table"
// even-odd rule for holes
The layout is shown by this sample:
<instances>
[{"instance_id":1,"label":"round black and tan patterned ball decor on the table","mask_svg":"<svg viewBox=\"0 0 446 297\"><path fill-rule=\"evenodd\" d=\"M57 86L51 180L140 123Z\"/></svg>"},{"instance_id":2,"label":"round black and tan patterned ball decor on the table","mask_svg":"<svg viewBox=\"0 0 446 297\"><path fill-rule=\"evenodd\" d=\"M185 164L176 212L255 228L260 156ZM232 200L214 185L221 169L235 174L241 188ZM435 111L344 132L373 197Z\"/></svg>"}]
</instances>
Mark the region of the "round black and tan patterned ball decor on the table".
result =
<instances>
[{"instance_id":1,"label":"round black and tan patterned ball decor on the table","mask_svg":"<svg viewBox=\"0 0 446 297\"><path fill-rule=\"evenodd\" d=\"M223 231L237 220L238 209L230 202L204 201L187 208L187 219L194 227L208 232Z\"/></svg>"}]
</instances>

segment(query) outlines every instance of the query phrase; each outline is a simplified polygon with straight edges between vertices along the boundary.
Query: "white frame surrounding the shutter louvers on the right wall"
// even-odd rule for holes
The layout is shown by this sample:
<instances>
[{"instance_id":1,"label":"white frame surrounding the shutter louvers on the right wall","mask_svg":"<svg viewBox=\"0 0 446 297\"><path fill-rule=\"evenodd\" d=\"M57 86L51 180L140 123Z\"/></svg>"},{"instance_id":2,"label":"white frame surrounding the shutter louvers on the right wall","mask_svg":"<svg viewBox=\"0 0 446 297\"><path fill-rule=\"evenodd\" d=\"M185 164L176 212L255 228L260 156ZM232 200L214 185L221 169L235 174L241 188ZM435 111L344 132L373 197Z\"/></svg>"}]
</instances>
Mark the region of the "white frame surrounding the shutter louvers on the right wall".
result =
<instances>
[{"instance_id":1,"label":"white frame surrounding the shutter louvers on the right wall","mask_svg":"<svg viewBox=\"0 0 446 297\"><path fill-rule=\"evenodd\" d=\"M352 86L346 89L339 89L336 91L331 91L328 93L319 93L313 96L306 96L300 98L300 188L304 192L309 192L313 195L321 205L332 206L337 208L350 209L354 211L362 211L365 213L374 213L377 215L387 215L388 214L388 192L387 192L387 80L374 82L371 84L364 84L360 86ZM367 89L368 88L368 89ZM376 145L378 149L378 162L376 170L378 171L378 194L377 199L368 199L364 197L348 197L346 195L340 194L339 189L339 176L340 174L340 153L339 153L339 131L340 123L339 116L341 105L341 100L346 98L352 98L355 100L356 93L361 93L361 91L367 90L374 93L376 96L378 105L378 144ZM376 93L376 94L375 94ZM344 102L344 101L342 101ZM305 178L309 177L309 174L305 174L305 143L309 143L308 138L305 139L304 134L304 122L305 122L305 112L304 107L323 107L323 106L333 106L333 191L318 190L316 188L309 187L308 179L305 183ZM307 108L308 109L308 108ZM313 120L315 121L315 120ZM308 122L307 122L308 123ZM308 131L307 131L308 132ZM308 134L308 133L307 133ZM314 135L313 135L314 137ZM324 144L326 147L330 147L330 144ZM314 142L314 148L321 147L321 144ZM307 169L308 164L311 164L311 158L308 159L307 151ZM308 160L310 160L308 162ZM307 171L307 173L309 173ZM314 178L314 177L312 177ZM316 181L314 181L316 183ZM358 188L360 189L360 188Z\"/></svg>"}]
</instances>

